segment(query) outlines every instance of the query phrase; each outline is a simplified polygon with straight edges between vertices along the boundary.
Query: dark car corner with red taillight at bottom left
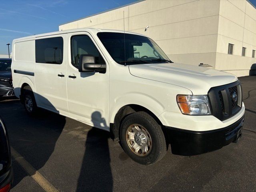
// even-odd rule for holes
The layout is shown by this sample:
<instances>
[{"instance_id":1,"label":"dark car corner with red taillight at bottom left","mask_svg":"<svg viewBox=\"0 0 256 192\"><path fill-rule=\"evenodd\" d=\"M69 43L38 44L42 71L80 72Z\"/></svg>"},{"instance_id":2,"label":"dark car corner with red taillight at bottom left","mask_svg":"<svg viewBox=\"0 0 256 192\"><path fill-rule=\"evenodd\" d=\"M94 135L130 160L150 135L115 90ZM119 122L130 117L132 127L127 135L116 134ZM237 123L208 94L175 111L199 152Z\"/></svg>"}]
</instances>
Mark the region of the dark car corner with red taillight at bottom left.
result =
<instances>
[{"instance_id":1,"label":"dark car corner with red taillight at bottom left","mask_svg":"<svg viewBox=\"0 0 256 192\"><path fill-rule=\"evenodd\" d=\"M10 191L13 180L11 152L6 126L0 117L0 192Z\"/></svg>"}]
</instances>

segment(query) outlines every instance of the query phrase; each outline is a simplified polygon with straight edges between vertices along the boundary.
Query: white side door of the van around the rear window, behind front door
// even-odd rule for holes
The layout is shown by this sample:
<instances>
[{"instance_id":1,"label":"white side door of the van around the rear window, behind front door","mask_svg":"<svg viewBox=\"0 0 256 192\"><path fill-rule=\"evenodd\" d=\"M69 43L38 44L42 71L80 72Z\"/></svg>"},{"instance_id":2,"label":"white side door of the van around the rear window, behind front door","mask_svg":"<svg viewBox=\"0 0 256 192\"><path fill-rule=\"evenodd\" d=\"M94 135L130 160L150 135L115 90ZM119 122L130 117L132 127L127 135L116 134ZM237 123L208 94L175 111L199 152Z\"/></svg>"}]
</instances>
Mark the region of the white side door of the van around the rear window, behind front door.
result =
<instances>
[{"instance_id":1,"label":"white side door of the van around the rear window, behind front door","mask_svg":"<svg viewBox=\"0 0 256 192\"><path fill-rule=\"evenodd\" d=\"M68 115L66 78L59 77L58 74L66 74L67 70L67 35L53 35L63 38L63 62L62 64L36 63L34 67L36 84L36 102L39 107L49 109L53 112ZM49 36L38 37L36 39L49 38Z\"/></svg>"}]
</instances>

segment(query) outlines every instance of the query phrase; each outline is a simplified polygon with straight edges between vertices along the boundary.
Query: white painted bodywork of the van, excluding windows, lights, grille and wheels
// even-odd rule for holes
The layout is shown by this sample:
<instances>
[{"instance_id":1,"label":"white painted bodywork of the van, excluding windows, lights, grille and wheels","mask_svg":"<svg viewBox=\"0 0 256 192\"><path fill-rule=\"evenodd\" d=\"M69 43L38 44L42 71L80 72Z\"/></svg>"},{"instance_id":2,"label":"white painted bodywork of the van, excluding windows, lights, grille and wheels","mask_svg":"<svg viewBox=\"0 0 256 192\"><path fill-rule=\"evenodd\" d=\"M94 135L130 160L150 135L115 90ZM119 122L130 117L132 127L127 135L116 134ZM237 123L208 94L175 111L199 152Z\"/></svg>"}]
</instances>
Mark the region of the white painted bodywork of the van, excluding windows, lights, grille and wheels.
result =
<instances>
[{"instance_id":1,"label":"white painted bodywork of the van, excluding windows, lights, grille and wheels","mask_svg":"<svg viewBox=\"0 0 256 192\"><path fill-rule=\"evenodd\" d=\"M236 82L238 80L236 76L208 68L175 63L120 65L113 60L100 42L97 37L98 32L121 33L122 31L81 28L13 40L12 72L15 95L19 97L22 84L27 83L35 93L39 107L104 130L109 130L110 123L114 123L120 108L130 104L150 110L164 126L187 130L218 129L232 124L243 116L244 105L238 114L223 122L211 115L183 115L176 102L177 94L207 94L211 87ZM98 48L106 62L105 74L80 73L72 66L70 38L79 34L88 35ZM54 36L63 37L63 63L60 65L35 63L35 39ZM15 46L26 41L32 42L30 45L24 43L26 51L30 51L27 60L26 57L18 56L21 49ZM14 70L32 72L34 76L17 74ZM65 77L59 77L58 74L63 74ZM71 79L68 76L76 76L76 78Z\"/></svg>"}]
</instances>

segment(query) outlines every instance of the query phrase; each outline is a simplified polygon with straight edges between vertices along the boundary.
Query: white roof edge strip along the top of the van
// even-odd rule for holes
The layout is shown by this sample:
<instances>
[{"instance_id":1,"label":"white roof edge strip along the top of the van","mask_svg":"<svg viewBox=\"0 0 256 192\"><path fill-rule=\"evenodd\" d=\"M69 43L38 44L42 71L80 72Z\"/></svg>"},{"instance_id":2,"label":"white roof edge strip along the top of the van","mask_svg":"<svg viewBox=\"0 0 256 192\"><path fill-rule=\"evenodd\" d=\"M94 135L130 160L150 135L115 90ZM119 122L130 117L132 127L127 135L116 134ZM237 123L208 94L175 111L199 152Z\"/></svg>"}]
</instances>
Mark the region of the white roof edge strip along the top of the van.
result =
<instances>
[{"instance_id":1,"label":"white roof edge strip along the top of the van","mask_svg":"<svg viewBox=\"0 0 256 192\"><path fill-rule=\"evenodd\" d=\"M88 33L94 33L94 34L96 34L98 32L124 33L124 31L122 31L122 30L110 30L110 29L98 29L98 28L78 28L78 29L70 29L70 30L63 30L63 31L56 31L56 32L50 32L50 33L43 33L43 34L38 34L38 35L26 36L26 37L14 39L14 41L16 41L16 40L24 40L24 39L29 39L29 38L43 37L43 36L51 36L51 35L72 33L72 32L88 32ZM134 33L134 32L129 32L129 31L125 31L125 33L144 36L142 34Z\"/></svg>"}]
</instances>

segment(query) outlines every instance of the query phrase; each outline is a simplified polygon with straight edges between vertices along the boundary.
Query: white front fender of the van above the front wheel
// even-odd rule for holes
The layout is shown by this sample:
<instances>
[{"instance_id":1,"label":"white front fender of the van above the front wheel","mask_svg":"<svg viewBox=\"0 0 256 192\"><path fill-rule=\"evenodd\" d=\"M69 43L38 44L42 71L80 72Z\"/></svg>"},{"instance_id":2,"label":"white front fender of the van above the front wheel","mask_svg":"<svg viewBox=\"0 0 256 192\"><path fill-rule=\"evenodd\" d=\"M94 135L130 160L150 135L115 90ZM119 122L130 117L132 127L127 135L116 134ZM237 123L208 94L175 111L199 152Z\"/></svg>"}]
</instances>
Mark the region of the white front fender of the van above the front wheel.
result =
<instances>
[{"instance_id":1,"label":"white front fender of the van above the front wheel","mask_svg":"<svg viewBox=\"0 0 256 192\"><path fill-rule=\"evenodd\" d=\"M114 122L120 108L129 104L140 105L156 116L168 110L180 112L177 103L172 101L176 100L177 94L192 94L180 86L134 77L128 66L114 61L111 64L118 73L113 74L113 77L110 74L110 122Z\"/></svg>"}]
</instances>

